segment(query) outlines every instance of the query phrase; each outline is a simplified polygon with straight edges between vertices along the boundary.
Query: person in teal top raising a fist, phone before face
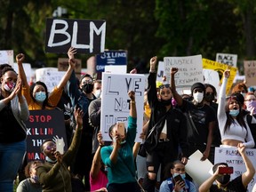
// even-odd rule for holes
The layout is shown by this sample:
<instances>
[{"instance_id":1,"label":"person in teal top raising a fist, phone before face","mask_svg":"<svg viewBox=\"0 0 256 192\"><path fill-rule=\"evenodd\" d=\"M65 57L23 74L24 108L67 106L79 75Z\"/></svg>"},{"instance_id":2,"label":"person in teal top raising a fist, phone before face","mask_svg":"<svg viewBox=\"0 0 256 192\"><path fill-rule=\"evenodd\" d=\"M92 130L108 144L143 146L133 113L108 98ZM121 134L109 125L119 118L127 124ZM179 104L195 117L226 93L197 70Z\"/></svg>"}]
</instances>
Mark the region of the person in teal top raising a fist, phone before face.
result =
<instances>
[{"instance_id":1,"label":"person in teal top raising a fist, phone before face","mask_svg":"<svg viewBox=\"0 0 256 192\"><path fill-rule=\"evenodd\" d=\"M137 132L135 92L130 91L128 94L131 101L127 132L122 122L111 125L108 134L112 145L100 150L102 161L108 166L108 192L140 192L132 155Z\"/></svg>"}]
</instances>

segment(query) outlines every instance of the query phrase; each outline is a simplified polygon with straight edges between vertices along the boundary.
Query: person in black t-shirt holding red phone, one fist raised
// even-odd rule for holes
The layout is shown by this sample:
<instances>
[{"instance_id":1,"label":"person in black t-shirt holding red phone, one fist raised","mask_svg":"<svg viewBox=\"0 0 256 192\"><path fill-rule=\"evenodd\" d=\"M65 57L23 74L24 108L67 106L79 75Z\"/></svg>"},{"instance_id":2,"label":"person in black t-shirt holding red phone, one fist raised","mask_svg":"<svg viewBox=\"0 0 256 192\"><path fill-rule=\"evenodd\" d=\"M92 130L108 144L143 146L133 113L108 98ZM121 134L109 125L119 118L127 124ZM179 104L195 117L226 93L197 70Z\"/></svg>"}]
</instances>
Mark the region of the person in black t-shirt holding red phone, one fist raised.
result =
<instances>
[{"instance_id":1,"label":"person in black t-shirt holding red phone, one fist raised","mask_svg":"<svg viewBox=\"0 0 256 192\"><path fill-rule=\"evenodd\" d=\"M244 165L246 167L246 172L237 176L234 180L230 180L230 174L224 173L220 174L219 169L221 166L228 167L226 163L214 164L212 167L212 176L205 180L204 183L199 187L199 192L246 192L247 186L252 181L255 174L255 169L251 160L246 156L245 148L242 143L237 145L237 150L244 160ZM215 181L216 184L213 184Z\"/></svg>"}]
</instances>

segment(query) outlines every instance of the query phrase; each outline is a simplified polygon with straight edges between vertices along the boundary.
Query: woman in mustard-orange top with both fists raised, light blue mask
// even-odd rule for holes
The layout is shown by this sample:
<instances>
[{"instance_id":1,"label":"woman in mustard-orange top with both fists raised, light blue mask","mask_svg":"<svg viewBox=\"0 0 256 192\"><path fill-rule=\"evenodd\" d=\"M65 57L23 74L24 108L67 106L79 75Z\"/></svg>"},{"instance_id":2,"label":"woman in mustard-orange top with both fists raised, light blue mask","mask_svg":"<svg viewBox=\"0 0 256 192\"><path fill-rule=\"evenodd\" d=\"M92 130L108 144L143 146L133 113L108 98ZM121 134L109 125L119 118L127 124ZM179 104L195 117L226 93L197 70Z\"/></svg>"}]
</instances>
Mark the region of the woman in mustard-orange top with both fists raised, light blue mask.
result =
<instances>
[{"instance_id":1,"label":"woman in mustard-orange top with both fists raised, light blue mask","mask_svg":"<svg viewBox=\"0 0 256 192\"><path fill-rule=\"evenodd\" d=\"M25 60L24 54L20 53L16 56L19 75L23 83L22 94L28 102L29 110L56 108L60 101L64 86L67 84L73 69L76 67L76 61L68 60L69 66L66 74L61 78L60 83L52 90L52 92L48 93L47 86L44 82L37 81L29 87L27 77L22 66L23 60Z\"/></svg>"}]
</instances>

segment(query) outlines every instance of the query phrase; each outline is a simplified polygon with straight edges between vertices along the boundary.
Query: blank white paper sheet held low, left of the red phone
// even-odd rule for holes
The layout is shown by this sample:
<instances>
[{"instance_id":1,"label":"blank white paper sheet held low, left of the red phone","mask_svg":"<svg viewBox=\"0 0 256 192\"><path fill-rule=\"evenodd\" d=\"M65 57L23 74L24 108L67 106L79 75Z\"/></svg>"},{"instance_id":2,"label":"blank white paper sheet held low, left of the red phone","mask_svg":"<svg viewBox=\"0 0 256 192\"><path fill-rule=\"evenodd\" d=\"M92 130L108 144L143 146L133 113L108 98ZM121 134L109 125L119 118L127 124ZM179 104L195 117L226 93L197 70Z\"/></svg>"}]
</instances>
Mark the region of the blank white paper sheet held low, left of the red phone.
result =
<instances>
[{"instance_id":1,"label":"blank white paper sheet held low, left of the red phone","mask_svg":"<svg viewBox=\"0 0 256 192\"><path fill-rule=\"evenodd\" d=\"M196 181L198 186L211 177L209 171L213 166L208 159L201 161L202 156L203 154L196 150L194 154L189 156L188 164L186 164L186 172Z\"/></svg>"}]
</instances>

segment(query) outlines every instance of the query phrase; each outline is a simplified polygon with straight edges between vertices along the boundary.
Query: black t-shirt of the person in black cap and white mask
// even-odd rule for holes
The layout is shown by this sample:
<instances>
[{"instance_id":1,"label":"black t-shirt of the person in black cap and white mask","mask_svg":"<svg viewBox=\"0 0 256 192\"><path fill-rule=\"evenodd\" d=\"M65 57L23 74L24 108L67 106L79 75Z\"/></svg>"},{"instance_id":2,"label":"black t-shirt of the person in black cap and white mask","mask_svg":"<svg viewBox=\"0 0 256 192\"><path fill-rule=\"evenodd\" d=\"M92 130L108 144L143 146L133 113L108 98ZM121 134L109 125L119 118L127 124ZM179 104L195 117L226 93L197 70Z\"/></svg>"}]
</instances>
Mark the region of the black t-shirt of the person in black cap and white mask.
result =
<instances>
[{"instance_id":1,"label":"black t-shirt of the person in black cap and white mask","mask_svg":"<svg viewBox=\"0 0 256 192\"><path fill-rule=\"evenodd\" d=\"M197 108L192 102L183 100L181 110L183 113L189 111L188 116L192 116L196 127L196 130L192 130L193 134L188 136L188 142L198 145L207 143L209 124L217 119L214 109L208 105Z\"/></svg>"}]
</instances>

